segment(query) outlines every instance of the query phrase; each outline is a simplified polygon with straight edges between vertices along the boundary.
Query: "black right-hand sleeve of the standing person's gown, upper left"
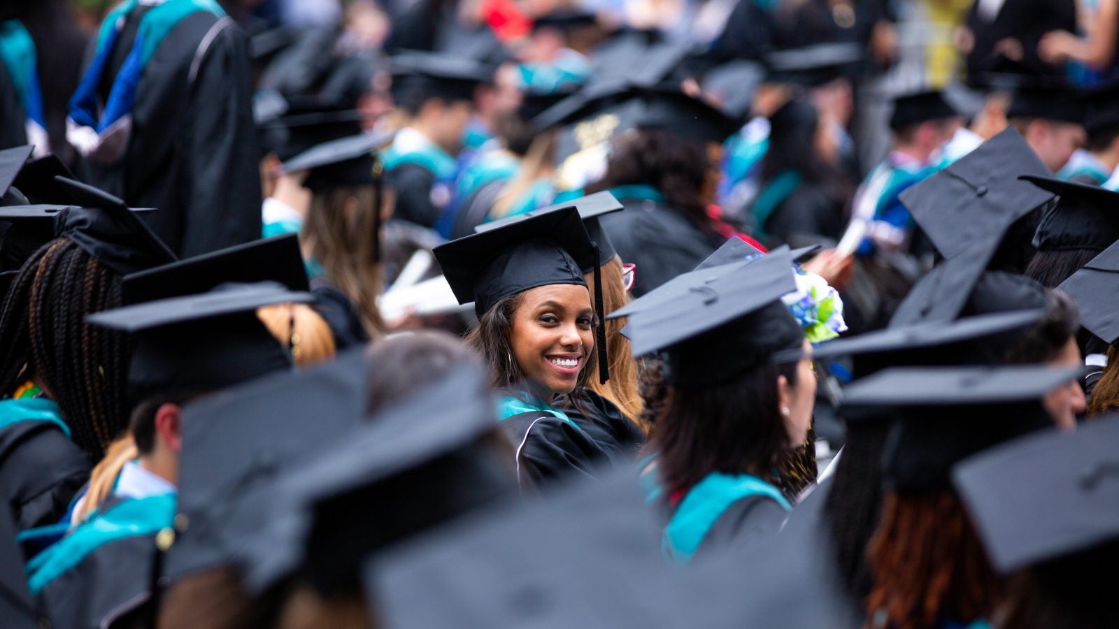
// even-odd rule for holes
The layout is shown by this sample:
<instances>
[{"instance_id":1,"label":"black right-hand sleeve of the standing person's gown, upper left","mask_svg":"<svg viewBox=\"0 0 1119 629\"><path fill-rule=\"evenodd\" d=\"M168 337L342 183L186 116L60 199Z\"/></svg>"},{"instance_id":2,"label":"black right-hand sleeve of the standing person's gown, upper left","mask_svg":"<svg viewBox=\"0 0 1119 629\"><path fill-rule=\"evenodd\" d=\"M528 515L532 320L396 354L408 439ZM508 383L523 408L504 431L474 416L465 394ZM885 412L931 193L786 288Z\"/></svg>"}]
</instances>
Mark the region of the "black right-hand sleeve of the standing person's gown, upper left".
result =
<instances>
[{"instance_id":1,"label":"black right-hand sleeve of the standing person's gown, upper left","mask_svg":"<svg viewBox=\"0 0 1119 629\"><path fill-rule=\"evenodd\" d=\"M247 45L232 22L214 28L220 30L195 59L190 123L181 139L188 165L180 178L187 187L181 257L261 237L260 150Z\"/></svg>"}]
</instances>

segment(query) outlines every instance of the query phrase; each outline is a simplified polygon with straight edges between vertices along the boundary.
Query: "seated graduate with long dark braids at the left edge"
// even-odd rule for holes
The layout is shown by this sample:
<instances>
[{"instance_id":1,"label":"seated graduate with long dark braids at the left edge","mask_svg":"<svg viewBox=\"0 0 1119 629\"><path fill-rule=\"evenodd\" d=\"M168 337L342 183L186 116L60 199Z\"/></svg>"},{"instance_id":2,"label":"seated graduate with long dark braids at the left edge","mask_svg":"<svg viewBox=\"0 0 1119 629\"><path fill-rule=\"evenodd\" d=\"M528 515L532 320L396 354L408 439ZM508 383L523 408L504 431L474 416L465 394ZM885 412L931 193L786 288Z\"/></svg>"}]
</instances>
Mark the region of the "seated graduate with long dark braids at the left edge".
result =
<instances>
[{"instance_id":1,"label":"seated graduate with long dark braids at the left edge","mask_svg":"<svg viewBox=\"0 0 1119 629\"><path fill-rule=\"evenodd\" d=\"M123 303L124 273L175 260L120 199L58 187L85 207L0 208L12 225L0 248L34 252L9 276L0 314L0 491L21 531L63 519L91 462L126 428L128 339L83 317Z\"/></svg>"}]
</instances>

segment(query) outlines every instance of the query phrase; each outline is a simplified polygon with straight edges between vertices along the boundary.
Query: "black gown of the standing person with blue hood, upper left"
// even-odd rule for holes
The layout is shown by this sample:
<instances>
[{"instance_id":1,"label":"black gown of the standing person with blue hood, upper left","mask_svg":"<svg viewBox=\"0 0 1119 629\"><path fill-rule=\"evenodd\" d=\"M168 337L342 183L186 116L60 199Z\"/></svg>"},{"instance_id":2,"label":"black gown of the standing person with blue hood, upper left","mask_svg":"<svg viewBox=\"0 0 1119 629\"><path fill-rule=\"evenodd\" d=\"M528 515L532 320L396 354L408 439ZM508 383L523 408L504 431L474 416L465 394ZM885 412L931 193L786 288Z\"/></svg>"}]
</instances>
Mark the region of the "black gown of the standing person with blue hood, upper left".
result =
<instances>
[{"instance_id":1,"label":"black gown of the standing person with blue hood, upper left","mask_svg":"<svg viewBox=\"0 0 1119 629\"><path fill-rule=\"evenodd\" d=\"M144 68L124 156L111 165L79 159L78 177L134 207L159 208L144 219L180 257L260 238L250 73L232 19L185 18Z\"/></svg>"}]
</instances>

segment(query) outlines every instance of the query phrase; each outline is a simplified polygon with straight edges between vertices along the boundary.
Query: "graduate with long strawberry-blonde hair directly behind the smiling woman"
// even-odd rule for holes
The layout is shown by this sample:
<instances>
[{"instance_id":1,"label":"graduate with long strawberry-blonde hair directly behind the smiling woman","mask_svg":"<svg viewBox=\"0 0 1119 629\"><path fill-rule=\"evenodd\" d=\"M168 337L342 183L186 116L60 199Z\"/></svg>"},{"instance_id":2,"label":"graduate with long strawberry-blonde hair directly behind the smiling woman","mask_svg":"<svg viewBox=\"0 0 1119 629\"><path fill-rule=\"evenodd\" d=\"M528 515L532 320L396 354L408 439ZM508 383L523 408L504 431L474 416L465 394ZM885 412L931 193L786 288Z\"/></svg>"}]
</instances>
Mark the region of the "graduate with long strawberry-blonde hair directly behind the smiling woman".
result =
<instances>
[{"instance_id":1,"label":"graduate with long strawberry-blonde hair directly behind the smiling woman","mask_svg":"<svg viewBox=\"0 0 1119 629\"><path fill-rule=\"evenodd\" d=\"M623 206L610 193L602 191L552 205L534 212L501 220L483 223L476 227L479 232L498 228L516 220L539 216L565 207L574 207L583 219L587 235L598 247L598 267L583 269L587 288L599 299L596 287L601 285L602 312L609 317L629 302L629 289L633 285L636 266L623 264L614 251L610 237L602 231L600 216L620 212ZM648 426L640 423L641 396L638 393L639 365L629 350L629 339L621 335L624 318L611 318L595 332L595 342L605 348L608 358L606 378L591 378L585 391L576 397L585 397L587 404L580 404L568 395L557 400L564 410L583 430L591 433L594 441L609 453L636 457L645 441Z\"/></svg>"}]
</instances>

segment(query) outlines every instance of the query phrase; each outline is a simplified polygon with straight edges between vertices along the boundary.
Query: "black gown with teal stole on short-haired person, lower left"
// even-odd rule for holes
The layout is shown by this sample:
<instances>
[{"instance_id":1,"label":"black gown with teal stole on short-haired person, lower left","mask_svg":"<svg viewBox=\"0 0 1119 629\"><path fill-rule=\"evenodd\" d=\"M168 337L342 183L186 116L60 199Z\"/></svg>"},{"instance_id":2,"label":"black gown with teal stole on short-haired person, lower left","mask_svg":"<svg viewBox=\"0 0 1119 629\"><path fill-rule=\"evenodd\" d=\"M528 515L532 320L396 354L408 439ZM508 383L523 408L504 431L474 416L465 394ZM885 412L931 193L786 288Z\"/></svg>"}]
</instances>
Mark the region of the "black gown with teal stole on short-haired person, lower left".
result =
<instances>
[{"instance_id":1,"label":"black gown with teal stole on short-haired person, lower left","mask_svg":"<svg viewBox=\"0 0 1119 629\"><path fill-rule=\"evenodd\" d=\"M171 526L175 494L113 498L28 562L29 584L55 627L151 626L157 533Z\"/></svg>"}]
</instances>

